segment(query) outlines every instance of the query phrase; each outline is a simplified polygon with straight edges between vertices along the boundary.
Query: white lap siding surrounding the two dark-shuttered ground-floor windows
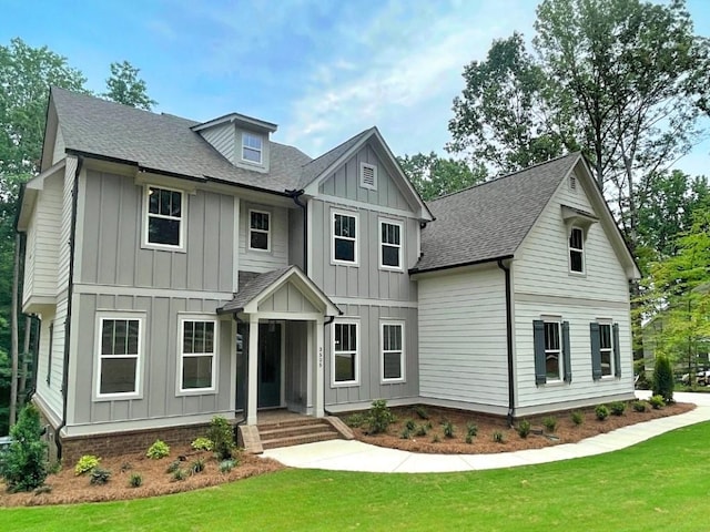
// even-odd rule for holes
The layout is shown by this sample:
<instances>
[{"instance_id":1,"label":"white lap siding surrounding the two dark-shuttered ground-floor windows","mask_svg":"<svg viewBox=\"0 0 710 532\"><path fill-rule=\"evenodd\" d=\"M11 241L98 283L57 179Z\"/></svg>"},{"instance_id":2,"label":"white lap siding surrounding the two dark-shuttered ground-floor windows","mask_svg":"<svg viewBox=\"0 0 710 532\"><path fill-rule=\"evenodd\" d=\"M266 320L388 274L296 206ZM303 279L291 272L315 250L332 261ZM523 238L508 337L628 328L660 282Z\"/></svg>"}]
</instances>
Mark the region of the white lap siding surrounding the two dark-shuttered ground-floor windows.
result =
<instances>
[{"instance_id":1,"label":"white lap siding surrounding the two dark-shuttered ground-floor windows","mask_svg":"<svg viewBox=\"0 0 710 532\"><path fill-rule=\"evenodd\" d=\"M571 383L535 385L535 355L532 346L532 320L541 315L557 315L569 321L569 344L571 354ZM631 332L628 308L575 304L551 305L549 303L517 301L516 318L516 368L517 406L560 403L566 401L590 401L595 397L633 392L633 368L631 352ZM597 318L612 319L619 324L619 344L621 352L621 379L591 378L591 345L589 324Z\"/></svg>"}]
</instances>

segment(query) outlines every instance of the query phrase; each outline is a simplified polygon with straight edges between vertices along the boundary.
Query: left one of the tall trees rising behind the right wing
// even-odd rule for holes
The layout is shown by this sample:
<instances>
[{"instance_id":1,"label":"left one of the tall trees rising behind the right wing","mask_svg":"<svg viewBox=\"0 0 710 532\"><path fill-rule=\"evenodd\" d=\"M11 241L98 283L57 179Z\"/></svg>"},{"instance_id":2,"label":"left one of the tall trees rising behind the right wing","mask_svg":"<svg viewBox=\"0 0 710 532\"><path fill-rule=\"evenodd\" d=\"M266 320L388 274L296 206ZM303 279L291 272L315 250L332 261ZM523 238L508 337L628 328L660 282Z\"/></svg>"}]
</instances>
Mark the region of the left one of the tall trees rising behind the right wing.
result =
<instances>
[{"instance_id":1,"label":"left one of the tall trees rising behind the right wing","mask_svg":"<svg viewBox=\"0 0 710 532\"><path fill-rule=\"evenodd\" d=\"M525 50L520 33L494 41L486 61L464 68L464 80L448 124L450 152L510 173L576 146L568 105Z\"/></svg>"}]
</instances>

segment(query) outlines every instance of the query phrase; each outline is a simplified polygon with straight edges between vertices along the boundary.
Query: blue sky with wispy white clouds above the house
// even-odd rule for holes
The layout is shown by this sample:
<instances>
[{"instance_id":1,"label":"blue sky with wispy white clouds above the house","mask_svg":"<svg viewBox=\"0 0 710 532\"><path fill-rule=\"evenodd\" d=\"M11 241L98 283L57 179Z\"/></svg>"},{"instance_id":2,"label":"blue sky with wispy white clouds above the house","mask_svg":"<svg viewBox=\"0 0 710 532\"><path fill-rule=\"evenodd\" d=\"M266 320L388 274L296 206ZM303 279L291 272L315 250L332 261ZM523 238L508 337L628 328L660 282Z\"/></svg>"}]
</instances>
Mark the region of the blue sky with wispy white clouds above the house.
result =
<instances>
[{"instance_id":1,"label":"blue sky with wispy white clouds above the house","mask_svg":"<svg viewBox=\"0 0 710 532\"><path fill-rule=\"evenodd\" d=\"M69 59L102 92L112 61L141 69L155 111L280 125L317 156L377 125L397 155L443 152L462 71L494 39L532 35L536 0L0 0L0 43ZM710 2L689 0L710 35ZM708 173L710 142L678 166Z\"/></svg>"}]
</instances>

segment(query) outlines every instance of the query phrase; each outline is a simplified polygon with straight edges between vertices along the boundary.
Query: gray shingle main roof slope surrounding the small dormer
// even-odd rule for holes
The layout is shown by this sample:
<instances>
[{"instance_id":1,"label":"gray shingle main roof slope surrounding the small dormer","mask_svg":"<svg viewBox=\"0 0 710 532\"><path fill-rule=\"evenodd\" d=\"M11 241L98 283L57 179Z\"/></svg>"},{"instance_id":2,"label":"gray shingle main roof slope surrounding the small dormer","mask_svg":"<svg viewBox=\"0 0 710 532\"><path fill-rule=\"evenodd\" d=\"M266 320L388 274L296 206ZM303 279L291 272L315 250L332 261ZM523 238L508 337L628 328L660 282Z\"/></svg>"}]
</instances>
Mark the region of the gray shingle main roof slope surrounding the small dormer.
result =
<instances>
[{"instance_id":1,"label":"gray shingle main roof slope surrounding the small dormer","mask_svg":"<svg viewBox=\"0 0 710 532\"><path fill-rule=\"evenodd\" d=\"M130 161L159 172L283 193L297 187L302 167L311 162L300 150L272 142L268 173L253 172L232 165L191 131L197 122L58 88L52 88L52 100L68 150Z\"/></svg>"}]
</instances>

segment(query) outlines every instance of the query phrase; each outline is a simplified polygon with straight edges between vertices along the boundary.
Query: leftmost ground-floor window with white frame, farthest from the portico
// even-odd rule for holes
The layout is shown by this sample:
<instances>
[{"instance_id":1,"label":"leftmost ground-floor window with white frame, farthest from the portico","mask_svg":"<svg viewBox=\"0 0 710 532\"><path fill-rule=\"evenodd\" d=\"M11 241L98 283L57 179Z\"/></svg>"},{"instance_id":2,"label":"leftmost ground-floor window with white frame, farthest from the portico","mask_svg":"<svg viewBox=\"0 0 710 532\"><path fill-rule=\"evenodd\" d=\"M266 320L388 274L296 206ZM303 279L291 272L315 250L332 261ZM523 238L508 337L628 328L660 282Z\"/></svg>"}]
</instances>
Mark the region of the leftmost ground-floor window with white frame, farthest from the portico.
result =
<instances>
[{"instance_id":1,"label":"leftmost ground-floor window with white frame, farthest from the portico","mask_svg":"<svg viewBox=\"0 0 710 532\"><path fill-rule=\"evenodd\" d=\"M99 317L99 365L97 397L138 397L142 318Z\"/></svg>"}]
</instances>

